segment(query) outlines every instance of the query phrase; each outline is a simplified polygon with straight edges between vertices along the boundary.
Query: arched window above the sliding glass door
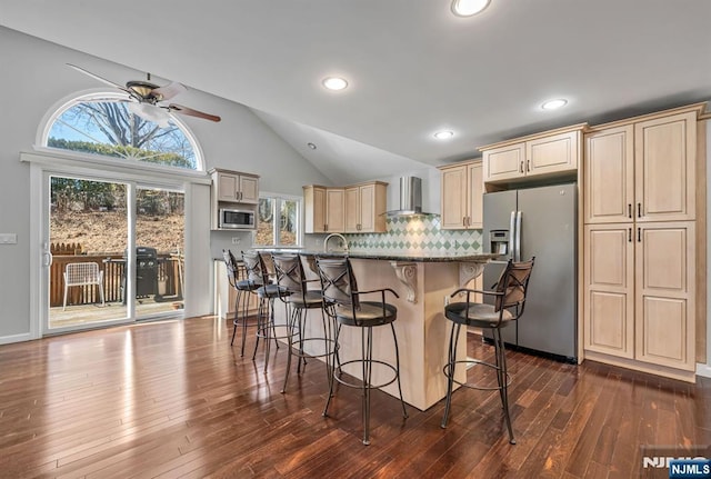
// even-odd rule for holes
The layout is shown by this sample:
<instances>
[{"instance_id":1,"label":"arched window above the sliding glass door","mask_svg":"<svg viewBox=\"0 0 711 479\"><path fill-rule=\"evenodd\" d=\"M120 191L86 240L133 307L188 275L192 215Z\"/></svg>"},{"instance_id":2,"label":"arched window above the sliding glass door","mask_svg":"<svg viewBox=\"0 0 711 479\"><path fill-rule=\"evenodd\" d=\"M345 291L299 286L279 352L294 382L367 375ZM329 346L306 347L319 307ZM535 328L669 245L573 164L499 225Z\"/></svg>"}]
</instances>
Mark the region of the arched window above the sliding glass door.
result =
<instances>
[{"instance_id":1,"label":"arched window above the sliding glass door","mask_svg":"<svg viewBox=\"0 0 711 479\"><path fill-rule=\"evenodd\" d=\"M180 120L157 107L148 106L160 114L146 114L134 106L139 104L128 101L121 93L80 96L66 102L49 118L41 144L204 170L198 143Z\"/></svg>"}]
</instances>

